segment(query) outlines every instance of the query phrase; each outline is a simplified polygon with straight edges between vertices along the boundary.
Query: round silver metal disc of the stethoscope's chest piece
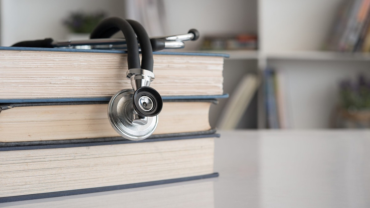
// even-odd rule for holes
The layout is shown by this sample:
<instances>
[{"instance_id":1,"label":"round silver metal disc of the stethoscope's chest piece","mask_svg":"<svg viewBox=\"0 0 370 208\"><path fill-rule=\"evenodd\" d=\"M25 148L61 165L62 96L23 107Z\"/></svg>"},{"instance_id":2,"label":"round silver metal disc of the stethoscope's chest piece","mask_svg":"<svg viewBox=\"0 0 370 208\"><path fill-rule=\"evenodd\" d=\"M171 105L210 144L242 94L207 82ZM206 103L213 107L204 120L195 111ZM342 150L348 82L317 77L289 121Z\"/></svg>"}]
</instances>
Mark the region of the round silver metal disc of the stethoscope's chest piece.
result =
<instances>
[{"instance_id":1,"label":"round silver metal disc of the stethoscope's chest piece","mask_svg":"<svg viewBox=\"0 0 370 208\"><path fill-rule=\"evenodd\" d=\"M134 90L131 89L116 93L108 105L108 118L113 129L122 137L134 141L144 140L157 128L158 115L144 117L136 113L132 105L133 97Z\"/></svg>"}]
</instances>

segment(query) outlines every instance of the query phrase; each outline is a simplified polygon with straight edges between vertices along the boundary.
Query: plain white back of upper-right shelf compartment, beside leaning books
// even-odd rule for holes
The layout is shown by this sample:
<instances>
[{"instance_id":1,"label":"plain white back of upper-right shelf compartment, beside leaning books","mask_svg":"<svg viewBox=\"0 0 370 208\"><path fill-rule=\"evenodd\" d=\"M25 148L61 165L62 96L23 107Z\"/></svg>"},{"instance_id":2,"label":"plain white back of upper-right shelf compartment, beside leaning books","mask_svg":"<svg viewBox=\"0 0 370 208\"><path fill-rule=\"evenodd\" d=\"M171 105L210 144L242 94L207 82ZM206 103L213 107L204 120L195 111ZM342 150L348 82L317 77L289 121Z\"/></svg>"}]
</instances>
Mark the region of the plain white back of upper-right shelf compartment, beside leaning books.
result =
<instances>
[{"instance_id":1,"label":"plain white back of upper-right shelf compartment, beside leaning books","mask_svg":"<svg viewBox=\"0 0 370 208\"><path fill-rule=\"evenodd\" d=\"M260 51L320 50L343 0L259 0Z\"/></svg>"}]
</instances>

